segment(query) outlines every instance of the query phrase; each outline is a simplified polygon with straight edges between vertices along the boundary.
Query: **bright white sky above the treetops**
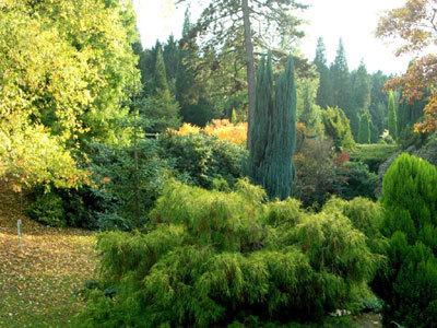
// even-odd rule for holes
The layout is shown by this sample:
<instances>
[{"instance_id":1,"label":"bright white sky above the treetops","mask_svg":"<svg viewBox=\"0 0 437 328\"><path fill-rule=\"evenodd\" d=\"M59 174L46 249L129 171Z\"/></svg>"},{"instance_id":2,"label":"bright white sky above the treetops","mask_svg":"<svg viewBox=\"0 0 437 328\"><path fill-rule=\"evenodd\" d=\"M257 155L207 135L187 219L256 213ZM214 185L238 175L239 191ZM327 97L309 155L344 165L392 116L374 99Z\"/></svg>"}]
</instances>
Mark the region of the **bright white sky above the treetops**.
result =
<instances>
[{"instance_id":1,"label":"bright white sky above the treetops","mask_svg":"<svg viewBox=\"0 0 437 328\"><path fill-rule=\"evenodd\" d=\"M179 38L182 30L185 7L175 7L172 0L134 0L138 27L143 47L152 47L156 39L165 42L169 34ZM197 3L197 1L191 1ZM395 57L395 45L377 39L375 30L380 14L392 8L402 7L405 0L300 0L310 8L302 13L307 22L303 25L306 33L299 49L312 60L317 39L323 37L327 58L333 61L342 37L350 70L358 67L363 59L371 73L381 70L385 73L403 73L412 55ZM191 5L193 20L200 14L196 4Z\"/></svg>"}]
</instances>

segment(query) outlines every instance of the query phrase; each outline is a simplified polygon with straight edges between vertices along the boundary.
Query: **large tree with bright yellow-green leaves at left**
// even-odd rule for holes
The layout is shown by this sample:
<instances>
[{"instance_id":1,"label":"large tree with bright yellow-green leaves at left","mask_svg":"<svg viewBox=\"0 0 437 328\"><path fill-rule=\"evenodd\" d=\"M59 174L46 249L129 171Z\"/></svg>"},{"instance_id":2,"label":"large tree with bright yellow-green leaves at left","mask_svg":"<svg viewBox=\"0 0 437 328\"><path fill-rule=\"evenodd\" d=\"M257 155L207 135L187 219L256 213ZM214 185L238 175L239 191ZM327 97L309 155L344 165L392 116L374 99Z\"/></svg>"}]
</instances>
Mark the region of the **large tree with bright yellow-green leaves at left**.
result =
<instances>
[{"instance_id":1,"label":"large tree with bright yellow-green leaves at left","mask_svg":"<svg viewBox=\"0 0 437 328\"><path fill-rule=\"evenodd\" d=\"M75 187L83 140L127 141L122 101L139 82L130 1L2 1L0 176Z\"/></svg>"}]
</instances>

